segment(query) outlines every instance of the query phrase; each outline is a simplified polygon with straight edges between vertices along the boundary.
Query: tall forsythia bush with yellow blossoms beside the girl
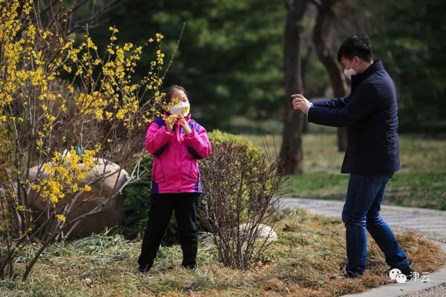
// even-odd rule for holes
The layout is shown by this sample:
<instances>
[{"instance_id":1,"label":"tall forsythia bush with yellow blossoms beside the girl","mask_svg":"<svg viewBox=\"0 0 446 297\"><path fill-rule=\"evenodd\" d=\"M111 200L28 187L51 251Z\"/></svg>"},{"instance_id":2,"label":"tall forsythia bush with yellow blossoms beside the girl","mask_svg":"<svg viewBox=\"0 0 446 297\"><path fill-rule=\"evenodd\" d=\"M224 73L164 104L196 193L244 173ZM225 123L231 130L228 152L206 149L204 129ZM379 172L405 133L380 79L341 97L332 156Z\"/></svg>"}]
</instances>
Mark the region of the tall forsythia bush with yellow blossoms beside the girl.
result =
<instances>
[{"instance_id":1,"label":"tall forsythia bush with yellow blossoms beside the girl","mask_svg":"<svg viewBox=\"0 0 446 297\"><path fill-rule=\"evenodd\" d=\"M80 193L91 191L110 172L98 172L83 186L79 181L100 161L132 163L134 143L141 145L141 131L164 104L162 34L144 45L119 45L118 29L110 27L109 45L101 51L88 27L80 40L69 37L70 9L62 1L45 13L40 17L43 12L32 0L0 0L0 130L6 135L1 141L13 143L0 164L5 170L0 205L6 220L1 224L0 278L13 275L15 255L38 232L48 230L24 278L47 245L63 241L66 230L107 206L120 188L86 216L68 219ZM134 69L149 45L155 46L155 60L135 83ZM2 143L2 151L4 147ZM64 148L68 153L61 153ZM38 169L31 176L34 166ZM32 208L31 192L47 205L40 214ZM45 222L36 225L36 216Z\"/></svg>"}]
</instances>

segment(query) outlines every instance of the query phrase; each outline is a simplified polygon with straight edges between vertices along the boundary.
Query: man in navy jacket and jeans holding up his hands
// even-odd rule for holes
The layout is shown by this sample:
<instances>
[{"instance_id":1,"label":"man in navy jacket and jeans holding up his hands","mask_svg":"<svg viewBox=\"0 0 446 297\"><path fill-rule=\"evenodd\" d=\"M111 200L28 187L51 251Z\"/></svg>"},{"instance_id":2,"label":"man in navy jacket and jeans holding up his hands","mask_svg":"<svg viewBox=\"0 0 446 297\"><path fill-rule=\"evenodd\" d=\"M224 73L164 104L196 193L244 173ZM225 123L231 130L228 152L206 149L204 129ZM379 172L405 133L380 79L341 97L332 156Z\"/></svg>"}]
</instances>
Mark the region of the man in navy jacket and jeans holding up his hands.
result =
<instances>
[{"instance_id":1,"label":"man in navy jacket and jeans holding up his hands","mask_svg":"<svg viewBox=\"0 0 446 297\"><path fill-rule=\"evenodd\" d=\"M341 169L342 173L350 173L342 211L348 258L346 278L364 274L367 230L390 268L399 268L410 278L410 262L379 214L387 182L400 168L394 83L383 63L373 61L367 36L348 38L339 48L338 61L351 79L350 95L314 103L300 94L291 97L293 109L305 113L309 122L347 127L348 145Z\"/></svg>"}]
</instances>

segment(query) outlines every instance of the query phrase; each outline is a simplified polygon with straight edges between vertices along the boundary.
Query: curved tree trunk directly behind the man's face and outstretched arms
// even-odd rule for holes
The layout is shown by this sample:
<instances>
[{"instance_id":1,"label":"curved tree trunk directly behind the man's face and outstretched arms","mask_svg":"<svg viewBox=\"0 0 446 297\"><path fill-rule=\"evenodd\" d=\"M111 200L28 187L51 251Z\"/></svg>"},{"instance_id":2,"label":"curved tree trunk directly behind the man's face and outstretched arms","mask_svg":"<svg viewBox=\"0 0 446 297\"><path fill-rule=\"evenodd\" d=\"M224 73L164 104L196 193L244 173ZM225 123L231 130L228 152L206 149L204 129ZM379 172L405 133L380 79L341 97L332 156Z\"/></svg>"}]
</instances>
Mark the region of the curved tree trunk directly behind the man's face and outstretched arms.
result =
<instances>
[{"instance_id":1,"label":"curved tree trunk directly behind the man's face and outstretched arms","mask_svg":"<svg viewBox=\"0 0 446 297\"><path fill-rule=\"evenodd\" d=\"M343 9L335 10L334 6L343 4L344 0L319 1L318 16L314 25L313 41L318 57L330 76L333 97L344 97L348 93L346 79L342 74L342 67L337 61L337 36L339 35L339 13ZM347 149L346 128L337 129L337 143L339 152Z\"/></svg>"}]
</instances>

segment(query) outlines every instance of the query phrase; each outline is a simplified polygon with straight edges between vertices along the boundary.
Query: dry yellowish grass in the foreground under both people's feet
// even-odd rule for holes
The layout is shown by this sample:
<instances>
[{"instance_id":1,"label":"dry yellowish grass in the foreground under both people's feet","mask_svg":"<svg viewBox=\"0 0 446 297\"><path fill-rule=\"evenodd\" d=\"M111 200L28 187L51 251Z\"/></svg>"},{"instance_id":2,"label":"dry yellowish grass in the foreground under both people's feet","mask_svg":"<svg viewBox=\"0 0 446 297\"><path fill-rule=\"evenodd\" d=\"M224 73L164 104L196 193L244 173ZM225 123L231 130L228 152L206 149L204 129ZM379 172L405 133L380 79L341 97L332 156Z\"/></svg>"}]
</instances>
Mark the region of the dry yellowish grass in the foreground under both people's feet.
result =
<instances>
[{"instance_id":1,"label":"dry yellowish grass in the foreground under both people's feet","mask_svg":"<svg viewBox=\"0 0 446 297\"><path fill-rule=\"evenodd\" d=\"M235 271L218 262L217 250L206 239L199 246L199 269L180 268L179 246L162 247L151 275L136 275L140 241L120 235L94 235L51 246L26 282L0 281L1 296L340 296L389 282L387 265L369 241L368 270L363 280L340 278L346 264L344 225L340 220L284 210L272 243L252 271ZM433 272L446 255L431 241L411 233L397 238L417 272ZM21 261L36 252L33 246ZM24 264L17 264L17 272Z\"/></svg>"}]
</instances>

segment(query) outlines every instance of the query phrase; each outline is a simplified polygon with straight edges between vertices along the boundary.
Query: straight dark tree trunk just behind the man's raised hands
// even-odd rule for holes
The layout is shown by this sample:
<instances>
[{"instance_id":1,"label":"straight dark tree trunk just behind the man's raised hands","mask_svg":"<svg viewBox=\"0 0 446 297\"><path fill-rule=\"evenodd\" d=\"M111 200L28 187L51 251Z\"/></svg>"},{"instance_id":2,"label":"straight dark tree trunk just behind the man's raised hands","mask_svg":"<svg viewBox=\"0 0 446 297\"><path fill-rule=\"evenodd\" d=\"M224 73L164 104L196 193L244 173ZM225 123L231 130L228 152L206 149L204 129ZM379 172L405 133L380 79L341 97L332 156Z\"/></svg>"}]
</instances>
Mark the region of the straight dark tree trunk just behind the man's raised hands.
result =
<instances>
[{"instance_id":1,"label":"straight dark tree trunk just behind the man's raised hands","mask_svg":"<svg viewBox=\"0 0 446 297\"><path fill-rule=\"evenodd\" d=\"M303 171L302 159L302 126L304 115L294 111L291 95L303 93L302 70L300 61L300 43L303 31L302 18L307 10L309 0L286 1L286 25L284 45L284 74L285 74L285 112L284 128L282 131L282 159L280 170L287 175L300 174Z\"/></svg>"}]
</instances>

